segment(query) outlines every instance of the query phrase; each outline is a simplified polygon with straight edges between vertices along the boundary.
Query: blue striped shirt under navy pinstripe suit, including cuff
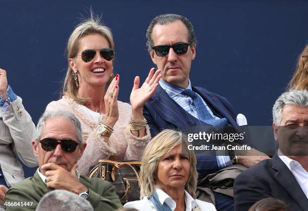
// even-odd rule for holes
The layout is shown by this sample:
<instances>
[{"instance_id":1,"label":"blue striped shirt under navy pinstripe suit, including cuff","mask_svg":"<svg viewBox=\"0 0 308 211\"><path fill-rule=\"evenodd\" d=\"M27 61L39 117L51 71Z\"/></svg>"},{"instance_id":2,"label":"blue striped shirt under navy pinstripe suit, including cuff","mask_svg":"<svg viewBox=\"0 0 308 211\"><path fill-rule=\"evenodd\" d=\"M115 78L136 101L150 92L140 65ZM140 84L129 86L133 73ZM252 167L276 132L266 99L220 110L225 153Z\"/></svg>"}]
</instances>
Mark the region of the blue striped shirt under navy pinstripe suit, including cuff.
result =
<instances>
[{"instance_id":1,"label":"blue striped shirt under navy pinstripe suit, including cuff","mask_svg":"<svg viewBox=\"0 0 308 211\"><path fill-rule=\"evenodd\" d=\"M172 85L166 83L165 81L163 81L162 79L159 81L159 84L165 90L165 92L168 94L168 96L171 99L173 99L177 104L179 104L179 106L181 106L185 111L187 111L189 114L191 114L195 118L200 119L199 116L198 116L197 110L196 110L196 106L195 106L192 98L187 96L187 95L183 95L182 94L182 92L185 89L172 86ZM188 86L186 87L186 89L192 90L190 80L189 80L189 83L188 83ZM196 94L199 95L198 93L196 93ZM201 97L201 99L202 99L202 97ZM217 116L215 116L213 114L213 112L206 105L206 103L204 102L203 99L202 99L202 102L204 103L204 105L205 105L206 109L208 110L208 112L215 119L220 119L219 117L217 117ZM231 162L229 156L221 156L221 155L219 155L219 156L216 156L216 157L217 157L217 164L218 164L219 168L224 168L226 166L232 165L232 162Z\"/></svg>"}]
</instances>

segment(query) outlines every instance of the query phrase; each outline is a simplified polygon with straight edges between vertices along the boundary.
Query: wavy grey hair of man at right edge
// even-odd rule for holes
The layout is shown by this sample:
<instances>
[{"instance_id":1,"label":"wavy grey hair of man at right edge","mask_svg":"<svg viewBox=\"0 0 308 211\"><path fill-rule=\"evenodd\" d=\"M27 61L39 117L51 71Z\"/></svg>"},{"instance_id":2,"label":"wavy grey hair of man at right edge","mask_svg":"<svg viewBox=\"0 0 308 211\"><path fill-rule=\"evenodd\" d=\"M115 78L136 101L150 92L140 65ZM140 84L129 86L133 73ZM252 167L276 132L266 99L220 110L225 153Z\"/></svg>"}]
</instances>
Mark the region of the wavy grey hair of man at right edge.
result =
<instances>
[{"instance_id":1,"label":"wavy grey hair of man at right edge","mask_svg":"<svg viewBox=\"0 0 308 211\"><path fill-rule=\"evenodd\" d=\"M286 105L296 105L305 108L308 107L308 91L290 90L278 97L273 106L273 121L277 125L281 122L282 108Z\"/></svg>"}]
</instances>

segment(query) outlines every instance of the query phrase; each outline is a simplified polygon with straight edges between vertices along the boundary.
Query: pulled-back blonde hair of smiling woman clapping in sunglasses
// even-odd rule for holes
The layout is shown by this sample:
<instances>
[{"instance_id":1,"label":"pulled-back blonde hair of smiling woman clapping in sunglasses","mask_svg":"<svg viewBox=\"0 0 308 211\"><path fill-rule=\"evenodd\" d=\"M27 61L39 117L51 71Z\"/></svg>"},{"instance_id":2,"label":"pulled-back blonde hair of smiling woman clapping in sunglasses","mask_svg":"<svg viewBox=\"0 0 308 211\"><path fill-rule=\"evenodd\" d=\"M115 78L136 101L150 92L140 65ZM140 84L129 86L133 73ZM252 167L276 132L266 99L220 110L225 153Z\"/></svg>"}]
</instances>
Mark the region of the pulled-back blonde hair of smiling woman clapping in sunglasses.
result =
<instances>
[{"instance_id":1,"label":"pulled-back blonde hair of smiling woman clapping in sunglasses","mask_svg":"<svg viewBox=\"0 0 308 211\"><path fill-rule=\"evenodd\" d=\"M90 18L81 22L69 36L66 47L67 58L74 58L75 56L77 56L79 51L79 41L81 40L81 38L87 35L99 34L103 36L108 41L109 48L112 48L114 50L114 42L111 30L101 24L101 17L94 16L92 11L90 13ZM89 102L90 99L78 96L78 87L76 87L75 85L72 73L73 70L68 65L63 83L62 95L67 95L80 104L86 104ZM113 77L111 76L109 82L107 83L107 86L110 84L112 79Z\"/></svg>"}]
</instances>

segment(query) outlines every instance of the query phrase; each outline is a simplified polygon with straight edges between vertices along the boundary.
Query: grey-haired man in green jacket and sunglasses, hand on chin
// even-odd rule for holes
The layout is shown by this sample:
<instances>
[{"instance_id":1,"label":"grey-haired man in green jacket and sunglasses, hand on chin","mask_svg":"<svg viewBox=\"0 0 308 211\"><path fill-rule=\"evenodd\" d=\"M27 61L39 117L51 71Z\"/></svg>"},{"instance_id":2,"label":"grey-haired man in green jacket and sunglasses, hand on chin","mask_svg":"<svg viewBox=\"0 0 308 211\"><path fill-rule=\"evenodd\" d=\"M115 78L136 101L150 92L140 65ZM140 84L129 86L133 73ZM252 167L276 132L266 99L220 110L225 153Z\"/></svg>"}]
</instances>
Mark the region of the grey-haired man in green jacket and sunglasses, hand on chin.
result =
<instances>
[{"instance_id":1,"label":"grey-haired man in green jacket and sunglasses, hand on chin","mask_svg":"<svg viewBox=\"0 0 308 211\"><path fill-rule=\"evenodd\" d=\"M87 143L81 124L67 111L45 112L32 141L39 168L33 177L14 184L6 193L7 210L35 210L43 195L65 189L86 198L94 210L122 207L114 186L99 178L88 178L76 170ZM52 210L52 207L50 207Z\"/></svg>"}]
</instances>

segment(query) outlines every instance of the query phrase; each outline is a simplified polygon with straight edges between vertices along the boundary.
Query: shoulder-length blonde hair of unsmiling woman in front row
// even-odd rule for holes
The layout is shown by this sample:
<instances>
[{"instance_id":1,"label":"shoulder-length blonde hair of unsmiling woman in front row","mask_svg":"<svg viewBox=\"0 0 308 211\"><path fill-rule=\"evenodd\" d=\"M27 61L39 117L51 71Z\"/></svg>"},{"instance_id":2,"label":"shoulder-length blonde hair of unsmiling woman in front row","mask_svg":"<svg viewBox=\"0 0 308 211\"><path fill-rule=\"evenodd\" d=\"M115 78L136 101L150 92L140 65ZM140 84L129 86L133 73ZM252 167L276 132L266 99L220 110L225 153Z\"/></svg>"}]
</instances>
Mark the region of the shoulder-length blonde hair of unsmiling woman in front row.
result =
<instances>
[{"instance_id":1,"label":"shoulder-length blonde hair of unsmiling woman in front row","mask_svg":"<svg viewBox=\"0 0 308 211\"><path fill-rule=\"evenodd\" d=\"M181 132L166 129L155 136L145 147L140 170L140 198L153 194L157 185L157 167L164 154L174 147L182 144L182 149L187 149L186 136ZM185 184L186 191L196 198L196 187L198 173L196 170L196 155L192 150L188 150L190 170L188 181Z\"/></svg>"}]
</instances>

